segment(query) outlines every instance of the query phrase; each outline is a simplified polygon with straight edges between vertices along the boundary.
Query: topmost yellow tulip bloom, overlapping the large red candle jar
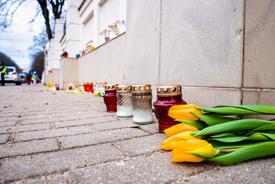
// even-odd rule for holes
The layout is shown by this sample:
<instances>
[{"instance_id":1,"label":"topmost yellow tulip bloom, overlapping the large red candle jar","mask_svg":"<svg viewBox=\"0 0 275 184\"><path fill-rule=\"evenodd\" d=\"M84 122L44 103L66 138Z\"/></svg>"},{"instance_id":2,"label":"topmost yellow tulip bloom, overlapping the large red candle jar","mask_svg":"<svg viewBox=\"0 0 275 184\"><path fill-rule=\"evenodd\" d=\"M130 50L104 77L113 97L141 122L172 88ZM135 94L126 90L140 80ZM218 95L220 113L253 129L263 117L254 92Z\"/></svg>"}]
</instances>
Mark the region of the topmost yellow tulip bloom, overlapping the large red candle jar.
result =
<instances>
[{"instance_id":1,"label":"topmost yellow tulip bloom, overlapping the large red candle jar","mask_svg":"<svg viewBox=\"0 0 275 184\"><path fill-rule=\"evenodd\" d=\"M168 115L173 119L184 119L188 121L197 121L199 118L194 116L190 112L196 112L197 114L203 114L202 110L197 110L198 105L188 104L188 105L175 105L169 109Z\"/></svg>"}]
</instances>

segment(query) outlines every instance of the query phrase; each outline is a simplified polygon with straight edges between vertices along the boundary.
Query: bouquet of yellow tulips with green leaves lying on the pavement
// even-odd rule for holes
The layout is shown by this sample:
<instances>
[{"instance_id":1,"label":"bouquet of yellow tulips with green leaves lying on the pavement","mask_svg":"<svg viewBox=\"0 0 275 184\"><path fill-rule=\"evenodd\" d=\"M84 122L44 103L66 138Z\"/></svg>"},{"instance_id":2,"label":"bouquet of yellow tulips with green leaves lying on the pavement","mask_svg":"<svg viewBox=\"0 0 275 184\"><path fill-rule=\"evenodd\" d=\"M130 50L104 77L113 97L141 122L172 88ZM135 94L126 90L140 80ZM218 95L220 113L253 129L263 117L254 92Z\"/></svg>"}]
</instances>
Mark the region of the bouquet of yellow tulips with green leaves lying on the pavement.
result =
<instances>
[{"instance_id":1,"label":"bouquet of yellow tulips with green leaves lying on the pavement","mask_svg":"<svg viewBox=\"0 0 275 184\"><path fill-rule=\"evenodd\" d=\"M233 165L275 154L275 121L234 119L227 116L275 114L274 106L175 105L168 115L177 125L164 130L163 150L172 150L174 162L214 161Z\"/></svg>"}]
</instances>

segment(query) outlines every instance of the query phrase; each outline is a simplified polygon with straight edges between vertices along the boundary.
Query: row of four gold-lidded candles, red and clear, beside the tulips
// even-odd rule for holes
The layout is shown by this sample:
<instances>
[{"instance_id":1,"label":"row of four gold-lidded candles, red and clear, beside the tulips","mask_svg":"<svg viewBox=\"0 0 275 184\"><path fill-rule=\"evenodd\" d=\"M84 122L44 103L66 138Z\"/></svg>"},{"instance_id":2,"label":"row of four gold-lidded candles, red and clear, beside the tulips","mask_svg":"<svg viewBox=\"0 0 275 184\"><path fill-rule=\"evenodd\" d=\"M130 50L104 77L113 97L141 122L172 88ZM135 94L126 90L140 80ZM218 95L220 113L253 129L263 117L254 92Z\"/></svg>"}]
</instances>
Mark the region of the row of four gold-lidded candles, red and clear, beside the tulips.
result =
<instances>
[{"instance_id":1,"label":"row of four gold-lidded candles, red and clear, beside the tulips","mask_svg":"<svg viewBox=\"0 0 275 184\"><path fill-rule=\"evenodd\" d=\"M133 117L133 123L153 123L152 86L144 85L104 85L103 96L107 112L116 112L119 118ZM185 105L182 99L181 85L157 87L157 101L153 103L155 116L159 121L159 132L179 122L168 116L168 110L174 105Z\"/></svg>"}]
</instances>

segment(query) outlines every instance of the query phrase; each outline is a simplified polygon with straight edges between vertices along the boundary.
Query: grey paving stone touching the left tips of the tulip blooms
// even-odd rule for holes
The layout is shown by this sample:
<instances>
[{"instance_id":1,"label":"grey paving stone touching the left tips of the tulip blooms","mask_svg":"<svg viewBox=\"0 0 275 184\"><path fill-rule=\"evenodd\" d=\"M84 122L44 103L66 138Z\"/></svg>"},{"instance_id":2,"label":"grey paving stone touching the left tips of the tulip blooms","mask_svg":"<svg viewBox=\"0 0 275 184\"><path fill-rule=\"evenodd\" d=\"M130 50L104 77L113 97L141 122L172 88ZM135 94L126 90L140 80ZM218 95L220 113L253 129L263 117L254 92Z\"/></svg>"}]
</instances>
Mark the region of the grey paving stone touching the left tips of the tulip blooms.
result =
<instances>
[{"instance_id":1,"label":"grey paving stone touching the left tips of the tulip blooms","mask_svg":"<svg viewBox=\"0 0 275 184\"><path fill-rule=\"evenodd\" d=\"M167 139L165 134L155 134L142 136L139 138L129 139L115 143L128 156L137 156L140 154L148 154L161 150L160 144Z\"/></svg>"}]
</instances>

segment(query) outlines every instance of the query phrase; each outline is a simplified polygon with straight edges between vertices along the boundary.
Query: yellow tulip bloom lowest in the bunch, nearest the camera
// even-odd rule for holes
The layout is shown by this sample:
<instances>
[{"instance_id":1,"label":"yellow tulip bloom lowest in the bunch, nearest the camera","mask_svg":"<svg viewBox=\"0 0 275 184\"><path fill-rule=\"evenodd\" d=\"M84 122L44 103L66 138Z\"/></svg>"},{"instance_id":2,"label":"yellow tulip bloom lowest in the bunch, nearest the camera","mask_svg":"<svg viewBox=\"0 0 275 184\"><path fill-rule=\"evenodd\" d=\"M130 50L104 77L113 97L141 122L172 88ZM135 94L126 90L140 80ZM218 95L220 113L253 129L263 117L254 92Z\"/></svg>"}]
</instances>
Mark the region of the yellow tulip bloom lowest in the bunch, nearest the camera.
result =
<instances>
[{"instance_id":1,"label":"yellow tulip bloom lowest in the bunch, nearest the camera","mask_svg":"<svg viewBox=\"0 0 275 184\"><path fill-rule=\"evenodd\" d=\"M219 154L210 143L205 140L191 139L178 141L171 152L173 162L201 162Z\"/></svg>"}]
</instances>

